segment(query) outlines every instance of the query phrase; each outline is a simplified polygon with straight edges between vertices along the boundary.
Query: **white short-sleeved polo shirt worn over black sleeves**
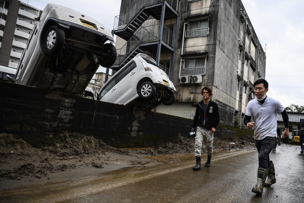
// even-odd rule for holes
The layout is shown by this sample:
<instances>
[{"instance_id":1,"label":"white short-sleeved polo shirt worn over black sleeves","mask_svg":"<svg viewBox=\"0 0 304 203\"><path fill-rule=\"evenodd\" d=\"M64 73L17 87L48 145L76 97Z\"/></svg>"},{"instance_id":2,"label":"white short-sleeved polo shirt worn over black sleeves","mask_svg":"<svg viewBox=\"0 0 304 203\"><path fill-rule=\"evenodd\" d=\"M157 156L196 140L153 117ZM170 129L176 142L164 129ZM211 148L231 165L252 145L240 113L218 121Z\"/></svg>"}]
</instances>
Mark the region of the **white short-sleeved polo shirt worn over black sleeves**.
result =
<instances>
[{"instance_id":1,"label":"white short-sleeved polo shirt worn over black sleeves","mask_svg":"<svg viewBox=\"0 0 304 203\"><path fill-rule=\"evenodd\" d=\"M269 96L263 104L256 98L248 102L245 115L253 117L254 139L262 140L267 136L277 137L277 112L282 113L284 109L278 100Z\"/></svg>"}]
</instances>

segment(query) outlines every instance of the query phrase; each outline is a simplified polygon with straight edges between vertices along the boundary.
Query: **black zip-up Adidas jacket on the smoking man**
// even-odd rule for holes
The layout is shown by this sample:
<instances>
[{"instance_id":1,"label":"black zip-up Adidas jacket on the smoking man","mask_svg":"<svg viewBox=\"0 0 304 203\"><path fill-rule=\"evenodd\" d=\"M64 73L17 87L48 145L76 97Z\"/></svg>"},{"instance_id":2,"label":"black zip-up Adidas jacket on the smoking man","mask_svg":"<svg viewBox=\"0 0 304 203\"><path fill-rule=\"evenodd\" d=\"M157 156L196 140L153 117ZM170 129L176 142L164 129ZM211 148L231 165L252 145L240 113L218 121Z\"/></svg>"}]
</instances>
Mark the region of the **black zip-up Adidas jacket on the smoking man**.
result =
<instances>
[{"instance_id":1,"label":"black zip-up Adidas jacket on the smoking man","mask_svg":"<svg viewBox=\"0 0 304 203\"><path fill-rule=\"evenodd\" d=\"M207 109L206 109L206 118L205 118L205 109L202 107L202 102L200 101L196 104L194 120L193 120L193 128L198 125L200 127L205 127L207 130L211 130L211 128L216 128L219 124L219 107L213 101L209 101ZM205 119L205 126L204 126Z\"/></svg>"}]
</instances>

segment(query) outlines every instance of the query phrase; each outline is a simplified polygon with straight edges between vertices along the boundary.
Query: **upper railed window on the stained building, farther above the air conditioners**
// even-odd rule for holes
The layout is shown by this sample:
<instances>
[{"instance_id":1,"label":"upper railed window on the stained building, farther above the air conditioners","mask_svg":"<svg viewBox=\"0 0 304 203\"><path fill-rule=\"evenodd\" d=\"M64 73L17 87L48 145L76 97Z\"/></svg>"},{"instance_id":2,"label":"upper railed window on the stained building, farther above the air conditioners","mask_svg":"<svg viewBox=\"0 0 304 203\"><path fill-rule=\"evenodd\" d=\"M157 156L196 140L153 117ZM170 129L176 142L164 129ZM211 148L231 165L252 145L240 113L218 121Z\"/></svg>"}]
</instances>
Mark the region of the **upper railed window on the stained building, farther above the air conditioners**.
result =
<instances>
[{"instance_id":1,"label":"upper railed window on the stained building, farther above the air conditioners","mask_svg":"<svg viewBox=\"0 0 304 203\"><path fill-rule=\"evenodd\" d=\"M209 19L188 23L188 30L185 37L197 37L209 34Z\"/></svg>"}]
</instances>

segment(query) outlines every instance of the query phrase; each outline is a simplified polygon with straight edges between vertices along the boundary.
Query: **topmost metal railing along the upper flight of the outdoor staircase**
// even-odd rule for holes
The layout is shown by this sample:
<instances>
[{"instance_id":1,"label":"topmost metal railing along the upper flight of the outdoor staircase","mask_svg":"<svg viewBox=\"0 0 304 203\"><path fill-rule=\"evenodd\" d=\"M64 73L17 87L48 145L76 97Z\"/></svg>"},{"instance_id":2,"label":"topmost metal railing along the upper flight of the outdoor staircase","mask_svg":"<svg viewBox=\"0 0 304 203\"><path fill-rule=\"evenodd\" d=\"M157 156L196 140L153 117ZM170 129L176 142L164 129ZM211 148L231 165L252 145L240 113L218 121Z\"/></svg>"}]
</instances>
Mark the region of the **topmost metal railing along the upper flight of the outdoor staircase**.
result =
<instances>
[{"instance_id":1,"label":"topmost metal railing along the upper flight of the outdoor staircase","mask_svg":"<svg viewBox=\"0 0 304 203\"><path fill-rule=\"evenodd\" d=\"M125 14L115 17L113 30L123 29L144 6L164 1L171 5L173 9L177 9L177 0L138 0Z\"/></svg>"}]
</instances>

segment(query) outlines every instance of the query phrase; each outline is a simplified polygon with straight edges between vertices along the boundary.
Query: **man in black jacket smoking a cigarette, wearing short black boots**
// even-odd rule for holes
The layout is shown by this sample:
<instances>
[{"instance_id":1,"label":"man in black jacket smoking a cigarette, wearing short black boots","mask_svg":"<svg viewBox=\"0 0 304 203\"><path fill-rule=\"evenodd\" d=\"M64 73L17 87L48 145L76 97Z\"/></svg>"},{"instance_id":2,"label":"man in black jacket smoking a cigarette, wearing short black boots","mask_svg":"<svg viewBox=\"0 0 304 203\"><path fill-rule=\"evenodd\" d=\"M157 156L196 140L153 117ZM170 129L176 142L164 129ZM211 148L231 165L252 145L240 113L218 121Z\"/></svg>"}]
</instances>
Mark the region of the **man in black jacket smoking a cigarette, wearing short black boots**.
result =
<instances>
[{"instance_id":1,"label":"man in black jacket smoking a cigarette, wearing short black boots","mask_svg":"<svg viewBox=\"0 0 304 203\"><path fill-rule=\"evenodd\" d=\"M194 131L197 125L195 136L196 165L193 167L193 170L199 170L201 168L201 147L203 139L208 155L205 166L209 167L211 165L213 132L215 132L215 128L219 124L219 108L215 102L210 100L210 96L213 95L212 90L209 87L204 87L201 93L203 100L196 104L192 126L192 131Z\"/></svg>"}]
</instances>

